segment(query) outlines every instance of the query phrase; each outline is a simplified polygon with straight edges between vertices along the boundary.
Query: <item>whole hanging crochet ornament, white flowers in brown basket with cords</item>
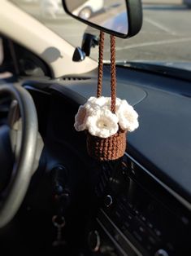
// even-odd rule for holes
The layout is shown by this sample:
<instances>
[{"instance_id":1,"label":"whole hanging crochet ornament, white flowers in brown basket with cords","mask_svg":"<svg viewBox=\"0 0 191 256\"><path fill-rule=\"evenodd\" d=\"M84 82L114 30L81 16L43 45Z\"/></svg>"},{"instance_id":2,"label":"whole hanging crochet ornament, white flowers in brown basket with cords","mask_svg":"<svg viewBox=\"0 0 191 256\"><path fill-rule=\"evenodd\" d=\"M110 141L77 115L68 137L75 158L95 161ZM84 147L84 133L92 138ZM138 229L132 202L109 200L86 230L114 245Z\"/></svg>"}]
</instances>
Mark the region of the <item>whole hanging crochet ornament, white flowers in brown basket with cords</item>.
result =
<instances>
[{"instance_id":1,"label":"whole hanging crochet ornament, white flowers in brown basket with cords","mask_svg":"<svg viewBox=\"0 0 191 256\"><path fill-rule=\"evenodd\" d=\"M97 97L80 106L77 131L86 130L87 150L98 161L116 160L126 148L126 135L138 127L138 114L125 99L116 98L115 36L111 35L111 97L102 96L104 33L100 32Z\"/></svg>"}]
</instances>

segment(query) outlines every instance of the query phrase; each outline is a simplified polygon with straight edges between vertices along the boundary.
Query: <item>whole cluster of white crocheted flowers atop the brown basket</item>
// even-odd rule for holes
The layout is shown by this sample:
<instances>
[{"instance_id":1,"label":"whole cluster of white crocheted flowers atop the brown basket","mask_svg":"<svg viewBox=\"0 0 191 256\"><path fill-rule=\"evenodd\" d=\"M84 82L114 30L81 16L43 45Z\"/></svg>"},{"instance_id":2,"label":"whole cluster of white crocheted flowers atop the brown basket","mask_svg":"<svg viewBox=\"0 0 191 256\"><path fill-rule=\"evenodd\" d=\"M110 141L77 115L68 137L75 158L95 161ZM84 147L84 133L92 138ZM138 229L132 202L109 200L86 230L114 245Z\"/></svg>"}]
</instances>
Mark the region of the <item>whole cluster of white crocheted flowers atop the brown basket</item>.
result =
<instances>
[{"instance_id":1,"label":"whole cluster of white crocheted flowers atop the brown basket","mask_svg":"<svg viewBox=\"0 0 191 256\"><path fill-rule=\"evenodd\" d=\"M90 97L75 116L77 131L88 130L90 135L108 138L119 130L133 131L139 126L138 114L126 99L116 98L115 113L111 113L111 97Z\"/></svg>"}]
</instances>

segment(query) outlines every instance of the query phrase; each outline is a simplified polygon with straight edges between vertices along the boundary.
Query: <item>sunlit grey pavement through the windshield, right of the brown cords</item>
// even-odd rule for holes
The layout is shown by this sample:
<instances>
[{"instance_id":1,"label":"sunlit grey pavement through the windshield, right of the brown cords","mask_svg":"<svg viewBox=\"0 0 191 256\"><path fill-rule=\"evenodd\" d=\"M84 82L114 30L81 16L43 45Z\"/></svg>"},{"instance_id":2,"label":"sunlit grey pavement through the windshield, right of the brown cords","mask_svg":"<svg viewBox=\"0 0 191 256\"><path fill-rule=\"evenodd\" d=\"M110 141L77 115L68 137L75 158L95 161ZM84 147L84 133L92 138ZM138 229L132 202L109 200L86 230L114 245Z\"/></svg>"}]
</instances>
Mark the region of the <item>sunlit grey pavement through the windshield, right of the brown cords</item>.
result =
<instances>
[{"instance_id":1,"label":"sunlit grey pavement through the windshield, right of the brown cords","mask_svg":"<svg viewBox=\"0 0 191 256\"><path fill-rule=\"evenodd\" d=\"M191 61L191 10L181 4L144 4L143 13L141 32L117 41L117 58Z\"/></svg>"}]
</instances>

